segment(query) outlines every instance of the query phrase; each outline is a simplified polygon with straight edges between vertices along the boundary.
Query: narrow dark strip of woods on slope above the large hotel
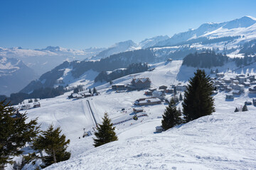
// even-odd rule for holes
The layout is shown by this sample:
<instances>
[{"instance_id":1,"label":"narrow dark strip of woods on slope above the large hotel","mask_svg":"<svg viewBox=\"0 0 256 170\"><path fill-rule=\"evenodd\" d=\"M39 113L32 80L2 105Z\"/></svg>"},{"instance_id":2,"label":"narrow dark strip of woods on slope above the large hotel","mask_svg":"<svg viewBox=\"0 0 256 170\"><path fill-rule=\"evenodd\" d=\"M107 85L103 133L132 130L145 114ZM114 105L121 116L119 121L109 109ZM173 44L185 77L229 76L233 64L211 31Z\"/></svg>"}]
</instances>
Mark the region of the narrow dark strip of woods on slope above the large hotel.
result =
<instances>
[{"instance_id":1,"label":"narrow dark strip of woods on slope above the large hotel","mask_svg":"<svg viewBox=\"0 0 256 170\"><path fill-rule=\"evenodd\" d=\"M106 71L100 72L100 74L95 77L95 82L97 81L112 81L114 79L118 79L119 77L124 77L129 74L145 72L149 69L148 64L144 63L132 63L126 69L116 69L112 71L110 74L107 74Z\"/></svg>"}]
</instances>

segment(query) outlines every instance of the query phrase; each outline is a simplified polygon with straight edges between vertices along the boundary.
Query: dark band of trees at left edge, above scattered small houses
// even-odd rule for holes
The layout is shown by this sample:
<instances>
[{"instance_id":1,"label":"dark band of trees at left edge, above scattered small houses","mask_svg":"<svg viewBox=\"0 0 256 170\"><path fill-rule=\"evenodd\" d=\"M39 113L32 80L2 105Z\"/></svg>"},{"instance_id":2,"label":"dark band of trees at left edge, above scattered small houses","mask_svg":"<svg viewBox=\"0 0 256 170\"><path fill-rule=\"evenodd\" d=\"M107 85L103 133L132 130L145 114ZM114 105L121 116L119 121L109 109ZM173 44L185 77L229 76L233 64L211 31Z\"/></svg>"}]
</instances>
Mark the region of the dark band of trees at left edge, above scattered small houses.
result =
<instances>
[{"instance_id":1,"label":"dark band of trees at left edge, above scattered small houses","mask_svg":"<svg viewBox=\"0 0 256 170\"><path fill-rule=\"evenodd\" d=\"M63 86L58 86L56 88L46 87L36 89L31 94L19 92L16 94L11 94L10 97L0 95L0 101L6 100L6 103L10 102L12 105L16 105L28 98L53 98L55 96L64 94L66 91L67 90L65 90Z\"/></svg>"}]
</instances>

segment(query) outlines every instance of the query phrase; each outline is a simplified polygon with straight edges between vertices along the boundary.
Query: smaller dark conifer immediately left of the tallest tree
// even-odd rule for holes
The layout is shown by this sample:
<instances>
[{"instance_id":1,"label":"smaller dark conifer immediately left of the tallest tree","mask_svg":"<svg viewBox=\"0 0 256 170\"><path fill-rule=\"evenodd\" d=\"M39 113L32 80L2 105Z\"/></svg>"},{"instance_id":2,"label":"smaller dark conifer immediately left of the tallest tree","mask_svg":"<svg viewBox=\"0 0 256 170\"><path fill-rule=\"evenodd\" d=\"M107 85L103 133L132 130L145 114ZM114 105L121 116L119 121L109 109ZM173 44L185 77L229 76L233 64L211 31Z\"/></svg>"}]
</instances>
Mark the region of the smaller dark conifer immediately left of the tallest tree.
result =
<instances>
[{"instance_id":1,"label":"smaller dark conifer immediately left of the tallest tree","mask_svg":"<svg viewBox=\"0 0 256 170\"><path fill-rule=\"evenodd\" d=\"M182 120L180 116L181 113L177 111L174 103L170 102L169 106L167 106L164 111L163 120L161 120L164 130L168 130L169 128L173 128L175 125L181 124Z\"/></svg>"}]
</instances>

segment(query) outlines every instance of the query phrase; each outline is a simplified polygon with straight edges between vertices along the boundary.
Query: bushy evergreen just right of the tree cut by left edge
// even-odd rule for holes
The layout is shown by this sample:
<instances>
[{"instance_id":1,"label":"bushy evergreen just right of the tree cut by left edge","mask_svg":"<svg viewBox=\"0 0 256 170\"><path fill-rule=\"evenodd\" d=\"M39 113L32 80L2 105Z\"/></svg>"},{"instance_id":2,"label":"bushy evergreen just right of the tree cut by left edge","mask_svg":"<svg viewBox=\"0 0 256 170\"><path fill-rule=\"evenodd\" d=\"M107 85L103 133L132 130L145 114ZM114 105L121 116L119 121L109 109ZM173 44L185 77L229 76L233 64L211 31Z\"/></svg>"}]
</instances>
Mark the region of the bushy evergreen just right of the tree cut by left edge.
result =
<instances>
[{"instance_id":1,"label":"bushy evergreen just right of the tree cut by left edge","mask_svg":"<svg viewBox=\"0 0 256 170\"><path fill-rule=\"evenodd\" d=\"M33 142L33 149L41 152L44 150L48 154L42 157L44 167L70 159L70 152L66 152L70 140L65 140L65 135L60 133L60 127L54 129L50 125Z\"/></svg>"}]
</instances>

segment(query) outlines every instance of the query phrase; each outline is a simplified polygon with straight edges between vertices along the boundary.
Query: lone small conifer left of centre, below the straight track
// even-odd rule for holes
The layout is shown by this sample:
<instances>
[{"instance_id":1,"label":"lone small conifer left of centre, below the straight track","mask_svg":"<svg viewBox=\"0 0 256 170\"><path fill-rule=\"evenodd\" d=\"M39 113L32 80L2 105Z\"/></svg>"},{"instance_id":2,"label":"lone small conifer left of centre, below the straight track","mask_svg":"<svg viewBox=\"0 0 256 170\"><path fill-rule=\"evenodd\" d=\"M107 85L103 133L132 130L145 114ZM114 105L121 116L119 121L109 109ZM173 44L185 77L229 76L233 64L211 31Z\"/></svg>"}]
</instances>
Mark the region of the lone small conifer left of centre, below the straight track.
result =
<instances>
[{"instance_id":1,"label":"lone small conifer left of centre, below the straight track","mask_svg":"<svg viewBox=\"0 0 256 170\"><path fill-rule=\"evenodd\" d=\"M113 123L111 123L110 118L108 118L107 113L105 113L102 125L99 125L95 132L95 136L97 139L93 139L95 147L99 147L100 145L104 145L108 142L112 142L118 140L116 133L114 132Z\"/></svg>"}]
</instances>

